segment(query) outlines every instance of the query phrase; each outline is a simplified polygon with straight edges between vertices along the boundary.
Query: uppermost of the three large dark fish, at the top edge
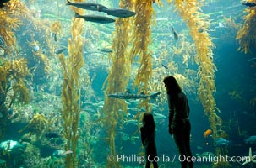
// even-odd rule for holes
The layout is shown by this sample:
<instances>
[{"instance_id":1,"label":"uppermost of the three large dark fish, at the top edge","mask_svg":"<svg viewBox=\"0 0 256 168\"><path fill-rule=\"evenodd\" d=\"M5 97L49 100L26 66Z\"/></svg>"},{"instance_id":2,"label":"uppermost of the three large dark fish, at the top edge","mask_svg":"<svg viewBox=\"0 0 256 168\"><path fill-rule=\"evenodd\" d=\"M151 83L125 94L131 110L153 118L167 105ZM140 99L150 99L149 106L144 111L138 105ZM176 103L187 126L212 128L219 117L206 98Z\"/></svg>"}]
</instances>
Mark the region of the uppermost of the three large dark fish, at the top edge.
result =
<instances>
[{"instance_id":1,"label":"uppermost of the three large dark fish, at the top edge","mask_svg":"<svg viewBox=\"0 0 256 168\"><path fill-rule=\"evenodd\" d=\"M70 1L67 1L66 5L72 5L76 8L84 8L86 10L91 11L101 11L102 9L106 9L105 6L99 4L99 3L72 3Z\"/></svg>"}]
</instances>

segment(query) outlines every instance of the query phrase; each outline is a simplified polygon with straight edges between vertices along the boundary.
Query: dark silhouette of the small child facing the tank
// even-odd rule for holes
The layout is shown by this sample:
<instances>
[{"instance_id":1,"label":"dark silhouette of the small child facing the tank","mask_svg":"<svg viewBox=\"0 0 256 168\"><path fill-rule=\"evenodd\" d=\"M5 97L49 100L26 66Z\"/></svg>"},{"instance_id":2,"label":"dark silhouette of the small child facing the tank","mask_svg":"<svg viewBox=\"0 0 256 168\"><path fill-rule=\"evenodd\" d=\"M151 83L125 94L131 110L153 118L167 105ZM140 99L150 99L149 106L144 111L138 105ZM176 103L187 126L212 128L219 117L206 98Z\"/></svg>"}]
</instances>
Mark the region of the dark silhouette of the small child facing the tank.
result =
<instances>
[{"instance_id":1,"label":"dark silhouette of the small child facing the tank","mask_svg":"<svg viewBox=\"0 0 256 168\"><path fill-rule=\"evenodd\" d=\"M154 158L157 156L155 147L155 121L151 113L144 113L142 118L143 126L140 128L141 142L145 150L145 168L150 168L151 162L154 168L158 168Z\"/></svg>"}]
</instances>

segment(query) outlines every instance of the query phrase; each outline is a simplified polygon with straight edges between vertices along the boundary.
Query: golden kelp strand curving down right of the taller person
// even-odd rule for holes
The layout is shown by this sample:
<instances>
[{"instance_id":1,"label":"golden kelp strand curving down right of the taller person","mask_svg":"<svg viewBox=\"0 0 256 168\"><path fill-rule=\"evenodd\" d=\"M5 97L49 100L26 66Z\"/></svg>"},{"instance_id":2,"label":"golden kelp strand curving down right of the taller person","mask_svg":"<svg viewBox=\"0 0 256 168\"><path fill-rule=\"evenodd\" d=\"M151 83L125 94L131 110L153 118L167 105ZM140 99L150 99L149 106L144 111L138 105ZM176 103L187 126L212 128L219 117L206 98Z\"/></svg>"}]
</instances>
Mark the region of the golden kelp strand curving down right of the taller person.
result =
<instances>
[{"instance_id":1,"label":"golden kelp strand curving down right of the taller person","mask_svg":"<svg viewBox=\"0 0 256 168\"><path fill-rule=\"evenodd\" d=\"M172 2L169 0L168 2ZM199 98L204 106L204 112L208 114L210 119L210 126L214 131L214 138L221 136L218 132L217 126L221 125L221 118L218 117L216 111L215 98L213 96L216 91L215 88L215 71L216 66L213 62L212 48L214 44L211 41L207 30L209 21L207 16L200 13L200 3L198 0L176 0L174 1L176 10L180 13L183 20L188 24L188 29L195 42L198 55L195 61L199 64L198 75L199 81ZM204 31L200 31L204 29Z\"/></svg>"}]
</instances>

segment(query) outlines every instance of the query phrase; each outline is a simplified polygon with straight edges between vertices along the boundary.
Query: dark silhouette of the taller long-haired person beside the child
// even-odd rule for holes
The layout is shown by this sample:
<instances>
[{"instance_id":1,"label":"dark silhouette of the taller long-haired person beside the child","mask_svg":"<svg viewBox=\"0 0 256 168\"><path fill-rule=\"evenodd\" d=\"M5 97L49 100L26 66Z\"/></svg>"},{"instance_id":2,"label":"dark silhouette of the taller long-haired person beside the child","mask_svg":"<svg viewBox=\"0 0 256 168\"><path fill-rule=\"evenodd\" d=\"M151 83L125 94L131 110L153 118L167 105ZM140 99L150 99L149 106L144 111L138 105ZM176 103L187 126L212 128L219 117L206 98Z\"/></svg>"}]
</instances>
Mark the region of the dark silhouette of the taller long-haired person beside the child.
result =
<instances>
[{"instance_id":1,"label":"dark silhouette of the taller long-haired person beside the child","mask_svg":"<svg viewBox=\"0 0 256 168\"><path fill-rule=\"evenodd\" d=\"M169 106L169 134L173 135L175 144L182 158L182 168L193 168L190 150L190 130L188 99L175 77L166 76L163 80Z\"/></svg>"}]
</instances>

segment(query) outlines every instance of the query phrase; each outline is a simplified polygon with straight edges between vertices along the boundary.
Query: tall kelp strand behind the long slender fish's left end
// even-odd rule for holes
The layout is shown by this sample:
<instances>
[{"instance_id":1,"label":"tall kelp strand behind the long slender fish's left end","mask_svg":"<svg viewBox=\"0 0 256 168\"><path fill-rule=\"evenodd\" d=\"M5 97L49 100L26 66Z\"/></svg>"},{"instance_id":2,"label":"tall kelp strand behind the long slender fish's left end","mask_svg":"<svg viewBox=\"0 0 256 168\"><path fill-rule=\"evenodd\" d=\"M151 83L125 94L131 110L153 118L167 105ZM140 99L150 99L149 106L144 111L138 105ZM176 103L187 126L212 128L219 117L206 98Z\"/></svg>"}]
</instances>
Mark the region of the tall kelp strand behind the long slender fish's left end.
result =
<instances>
[{"instance_id":1,"label":"tall kelp strand behind the long slender fish's left end","mask_svg":"<svg viewBox=\"0 0 256 168\"><path fill-rule=\"evenodd\" d=\"M119 5L121 8L133 8L132 1L129 2L123 0ZM103 85L104 87L107 83L103 107L105 118L103 118L102 121L106 128L110 155L116 155L117 153L115 144L116 128L117 123L119 123L120 120L123 120L123 113L117 112L121 110L124 113L128 113L128 111L127 104L124 100L113 101L113 99L107 97L107 95L115 92L125 92L128 86L131 71L131 61L129 60L128 55L128 43L130 40L129 31L132 26L131 19L132 18L116 19L116 32L113 34L113 52L109 55L112 60L112 67ZM116 161L108 160L106 167L120 167L120 165Z\"/></svg>"}]
</instances>

